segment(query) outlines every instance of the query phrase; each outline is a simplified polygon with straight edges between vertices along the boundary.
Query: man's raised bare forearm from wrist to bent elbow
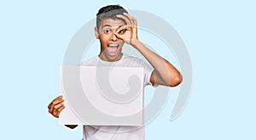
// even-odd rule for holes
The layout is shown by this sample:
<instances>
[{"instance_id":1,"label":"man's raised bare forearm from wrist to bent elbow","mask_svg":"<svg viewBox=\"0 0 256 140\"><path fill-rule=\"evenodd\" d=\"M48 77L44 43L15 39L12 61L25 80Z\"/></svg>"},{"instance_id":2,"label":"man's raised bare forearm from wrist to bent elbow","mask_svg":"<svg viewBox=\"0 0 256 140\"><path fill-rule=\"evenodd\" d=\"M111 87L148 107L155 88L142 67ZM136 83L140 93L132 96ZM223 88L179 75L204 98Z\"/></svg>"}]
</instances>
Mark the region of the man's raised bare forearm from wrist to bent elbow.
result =
<instances>
[{"instance_id":1,"label":"man's raised bare forearm from wrist to bent elbow","mask_svg":"<svg viewBox=\"0 0 256 140\"><path fill-rule=\"evenodd\" d=\"M143 42L137 41L132 46L137 48L154 67L154 73L159 76L160 84L173 87L181 82L182 76L180 72L166 59L148 49Z\"/></svg>"}]
</instances>

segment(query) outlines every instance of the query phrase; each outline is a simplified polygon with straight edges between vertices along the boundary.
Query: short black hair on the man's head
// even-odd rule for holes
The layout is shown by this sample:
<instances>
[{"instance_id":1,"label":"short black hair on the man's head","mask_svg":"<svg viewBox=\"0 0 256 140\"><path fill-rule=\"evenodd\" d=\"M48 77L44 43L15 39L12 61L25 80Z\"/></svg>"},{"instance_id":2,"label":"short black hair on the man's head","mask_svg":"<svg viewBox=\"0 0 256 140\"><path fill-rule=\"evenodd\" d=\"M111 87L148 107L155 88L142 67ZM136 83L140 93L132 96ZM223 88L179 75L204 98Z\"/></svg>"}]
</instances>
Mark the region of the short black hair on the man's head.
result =
<instances>
[{"instance_id":1,"label":"short black hair on the man's head","mask_svg":"<svg viewBox=\"0 0 256 140\"><path fill-rule=\"evenodd\" d=\"M125 8L117 5L108 5L99 9L98 13L96 14L96 27L99 29L102 20L111 18L113 20L117 20L119 18L116 17L117 14L123 14L128 12ZM122 19L121 19L122 20Z\"/></svg>"}]
</instances>

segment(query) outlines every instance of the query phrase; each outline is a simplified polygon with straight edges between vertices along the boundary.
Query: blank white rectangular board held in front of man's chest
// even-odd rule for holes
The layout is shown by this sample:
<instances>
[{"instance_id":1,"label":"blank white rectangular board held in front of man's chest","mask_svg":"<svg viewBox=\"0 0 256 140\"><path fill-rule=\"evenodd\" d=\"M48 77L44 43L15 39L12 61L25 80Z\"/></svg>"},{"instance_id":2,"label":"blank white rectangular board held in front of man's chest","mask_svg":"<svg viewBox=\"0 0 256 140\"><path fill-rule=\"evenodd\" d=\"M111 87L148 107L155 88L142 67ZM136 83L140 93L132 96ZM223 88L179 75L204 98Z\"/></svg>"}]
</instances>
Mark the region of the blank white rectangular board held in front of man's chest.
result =
<instances>
[{"instance_id":1,"label":"blank white rectangular board held in front of man's chest","mask_svg":"<svg viewBox=\"0 0 256 140\"><path fill-rule=\"evenodd\" d=\"M61 66L59 123L143 125L143 68Z\"/></svg>"}]
</instances>

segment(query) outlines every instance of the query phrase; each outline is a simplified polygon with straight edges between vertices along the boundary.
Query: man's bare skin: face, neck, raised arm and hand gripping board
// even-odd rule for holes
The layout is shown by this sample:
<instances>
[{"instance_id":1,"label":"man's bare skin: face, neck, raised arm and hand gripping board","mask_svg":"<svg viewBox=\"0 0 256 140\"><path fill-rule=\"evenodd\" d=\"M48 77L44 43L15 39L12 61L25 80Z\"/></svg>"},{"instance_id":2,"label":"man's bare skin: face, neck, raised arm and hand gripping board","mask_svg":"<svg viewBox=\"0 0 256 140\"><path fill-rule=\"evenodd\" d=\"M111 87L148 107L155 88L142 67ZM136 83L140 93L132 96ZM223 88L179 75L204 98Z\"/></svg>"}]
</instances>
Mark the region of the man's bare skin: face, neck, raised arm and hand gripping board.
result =
<instances>
[{"instance_id":1,"label":"man's bare skin: face, neck, raised arm and hand gripping board","mask_svg":"<svg viewBox=\"0 0 256 140\"><path fill-rule=\"evenodd\" d=\"M176 87L183 79L180 72L166 59L163 59L157 53L148 49L143 42L140 42L137 36L137 20L130 14L119 14L118 18L125 20L102 20L99 28L95 28L96 38L101 42L101 53L99 57L105 61L117 61L121 58L121 48L125 43L136 48L138 52L148 59L148 62L154 67L150 76L150 82L155 85L167 87ZM127 24L125 24L127 23ZM108 53L108 44L118 44L116 53ZM62 109L65 109L62 96L55 98L48 106L49 113L59 118ZM65 125L69 128L75 128L78 125Z\"/></svg>"}]
</instances>

